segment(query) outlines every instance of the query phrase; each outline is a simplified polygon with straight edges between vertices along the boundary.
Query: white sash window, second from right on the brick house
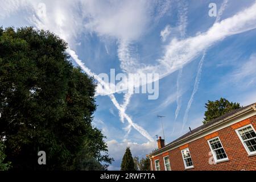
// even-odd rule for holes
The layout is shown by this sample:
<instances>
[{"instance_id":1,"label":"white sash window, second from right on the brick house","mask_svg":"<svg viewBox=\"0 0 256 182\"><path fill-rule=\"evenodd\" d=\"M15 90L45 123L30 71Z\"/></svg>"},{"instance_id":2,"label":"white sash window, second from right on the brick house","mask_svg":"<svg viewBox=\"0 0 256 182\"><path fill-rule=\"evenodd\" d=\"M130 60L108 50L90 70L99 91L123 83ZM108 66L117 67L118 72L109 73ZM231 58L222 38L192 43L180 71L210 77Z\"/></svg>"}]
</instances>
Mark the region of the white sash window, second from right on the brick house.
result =
<instances>
[{"instance_id":1,"label":"white sash window, second from right on the brick house","mask_svg":"<svg viewBox=\"0 0 256 182\"><path fill-rule=\"evenodd\" d=\"M216 137L208 140L210 150L212 151L213 158L215 162L223 162L228 160L228 156L221 144L220 138Z\"/></svg>"}]
</instances>

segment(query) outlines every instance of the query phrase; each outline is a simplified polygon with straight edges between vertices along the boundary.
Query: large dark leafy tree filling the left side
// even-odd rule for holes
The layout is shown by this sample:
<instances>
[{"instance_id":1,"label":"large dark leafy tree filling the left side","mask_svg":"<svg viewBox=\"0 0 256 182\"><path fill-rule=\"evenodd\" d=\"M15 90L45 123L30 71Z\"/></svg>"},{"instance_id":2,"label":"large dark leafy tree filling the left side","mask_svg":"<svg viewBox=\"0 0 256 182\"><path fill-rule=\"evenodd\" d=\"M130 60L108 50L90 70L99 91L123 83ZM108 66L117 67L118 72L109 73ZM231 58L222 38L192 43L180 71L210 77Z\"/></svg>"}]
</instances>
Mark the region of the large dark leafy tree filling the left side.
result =
<instances>
[{"instance_id":1,"label":"large dark leafy tree filling the left side","mask_svg":"<svg viewBox=\"0 0 256 182\"><path fill-rule=\"evenodd\" d=\"M48 31L0 27L0 138L14 169L104 169L101 162L112 162L91 124L96 84L72 66L66 48ZM41 150L47 165L38 164Z\"/></svg>"}]
</instances>

